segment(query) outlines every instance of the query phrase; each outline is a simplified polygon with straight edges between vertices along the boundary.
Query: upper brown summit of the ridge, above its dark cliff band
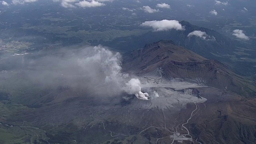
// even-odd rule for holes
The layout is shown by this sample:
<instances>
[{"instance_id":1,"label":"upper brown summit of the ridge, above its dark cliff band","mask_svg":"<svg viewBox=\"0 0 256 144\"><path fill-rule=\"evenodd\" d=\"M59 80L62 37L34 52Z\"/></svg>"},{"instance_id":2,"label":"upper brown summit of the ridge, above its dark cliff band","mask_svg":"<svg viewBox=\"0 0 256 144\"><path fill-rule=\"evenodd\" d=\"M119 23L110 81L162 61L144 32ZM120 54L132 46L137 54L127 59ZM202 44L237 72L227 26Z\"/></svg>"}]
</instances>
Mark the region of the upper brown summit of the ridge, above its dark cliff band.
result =
<instances>
[{"instance_id":1,"label":"upper brown summit of the ridge, above its dark cliff band","mask_svg":"<svg viewBox=\"0 0 256 144\"><path fill-rule=\"evenodd\" d=\"M137 61L140 64L156 64L158 62L196 62L204 61L206 58L187 50L184 47L174 44L171 40L160 40L152 44L146 44L144 48L127 52L124 55L124 63ZM134 65L139 67L138 64Z\"/></svg>"}]
</instances>

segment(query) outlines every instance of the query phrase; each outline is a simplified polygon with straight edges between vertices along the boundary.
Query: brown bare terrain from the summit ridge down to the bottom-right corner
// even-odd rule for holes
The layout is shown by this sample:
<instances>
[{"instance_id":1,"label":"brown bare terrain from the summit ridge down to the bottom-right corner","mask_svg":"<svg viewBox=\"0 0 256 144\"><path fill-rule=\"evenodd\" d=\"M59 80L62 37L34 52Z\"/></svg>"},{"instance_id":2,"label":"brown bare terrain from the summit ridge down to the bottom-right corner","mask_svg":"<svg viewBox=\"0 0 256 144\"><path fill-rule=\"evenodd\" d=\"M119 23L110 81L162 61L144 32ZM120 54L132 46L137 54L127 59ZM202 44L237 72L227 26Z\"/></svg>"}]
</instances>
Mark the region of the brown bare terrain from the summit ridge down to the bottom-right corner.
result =
<instances>
[{"instance_id":1,"label":"brown bare terrain from the summit ridge down to the bottom-right corner","mask_svg":"<svg viewBox=\"0 0 256 144\"><path fill-rule=\"evenodd\" d=\"M187 124L192 137L197 139L194 143L256 143L255 82L235 74L221 62L207 60L171 41L162 40L125 54L123 65L135 75L152 76L160 68L165 78L182 78L218 88L193 90L194 94L200 92L200 96L208 99L198 104L199 110ZM186 120L184 116L195 107L187 104L177 120Z\"/></svg>"}]
</instances>

